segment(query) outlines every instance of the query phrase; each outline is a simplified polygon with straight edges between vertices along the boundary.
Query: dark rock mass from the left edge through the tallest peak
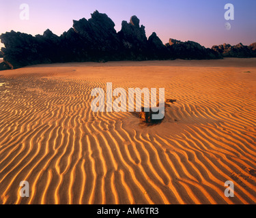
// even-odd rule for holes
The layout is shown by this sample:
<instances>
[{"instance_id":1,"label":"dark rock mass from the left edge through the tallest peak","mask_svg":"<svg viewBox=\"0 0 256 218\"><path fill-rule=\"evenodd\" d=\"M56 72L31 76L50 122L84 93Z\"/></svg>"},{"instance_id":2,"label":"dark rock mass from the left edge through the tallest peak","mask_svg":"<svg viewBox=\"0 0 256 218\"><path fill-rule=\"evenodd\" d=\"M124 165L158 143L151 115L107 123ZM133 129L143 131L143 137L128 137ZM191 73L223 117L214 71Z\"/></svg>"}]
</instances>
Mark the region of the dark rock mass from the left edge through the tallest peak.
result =
<instances>
[{"instance_id":1,"label":"dark rock mass from the left edge through the tallest peak","mask_svg":"<svg viewBox=\"0 0 256 218\"><path fill-rule=\"evenodd\" d=\"M73 28L57 36L49 29L43 35L7 32L0 35L4 61L12 68L38 63L70 61L117 61L121 43L114 22L98 11L91 18L73 20Z\"/></svg>"}]
</instances>

